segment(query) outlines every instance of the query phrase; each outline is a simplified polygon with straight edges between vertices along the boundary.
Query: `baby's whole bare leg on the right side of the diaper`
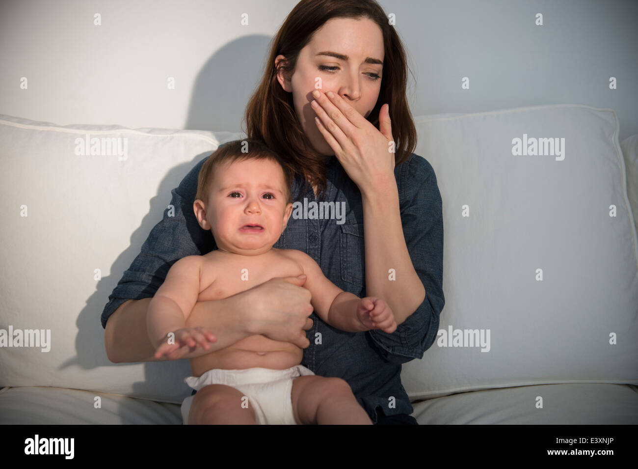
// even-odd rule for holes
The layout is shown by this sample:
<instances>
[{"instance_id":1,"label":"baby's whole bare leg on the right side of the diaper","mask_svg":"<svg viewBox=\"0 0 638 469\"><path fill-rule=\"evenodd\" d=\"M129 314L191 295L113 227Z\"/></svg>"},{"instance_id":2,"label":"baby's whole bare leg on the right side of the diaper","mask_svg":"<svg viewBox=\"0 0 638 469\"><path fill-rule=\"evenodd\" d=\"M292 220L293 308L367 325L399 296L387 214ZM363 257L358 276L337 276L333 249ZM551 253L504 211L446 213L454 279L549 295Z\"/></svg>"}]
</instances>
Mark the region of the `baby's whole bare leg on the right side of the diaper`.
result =
<instances>
[{"instance_id":1,"label":"baby's whole bare leg on the right side of the diaper","mask_svg":"<svg viewBox=\"0 0 638 469\"><path fill-rule=\"evenodd\" d=\"M299 376L292 382L292 410L298 424L372 425L350 385L341 378Z\"/></svg>"}]
</instances>

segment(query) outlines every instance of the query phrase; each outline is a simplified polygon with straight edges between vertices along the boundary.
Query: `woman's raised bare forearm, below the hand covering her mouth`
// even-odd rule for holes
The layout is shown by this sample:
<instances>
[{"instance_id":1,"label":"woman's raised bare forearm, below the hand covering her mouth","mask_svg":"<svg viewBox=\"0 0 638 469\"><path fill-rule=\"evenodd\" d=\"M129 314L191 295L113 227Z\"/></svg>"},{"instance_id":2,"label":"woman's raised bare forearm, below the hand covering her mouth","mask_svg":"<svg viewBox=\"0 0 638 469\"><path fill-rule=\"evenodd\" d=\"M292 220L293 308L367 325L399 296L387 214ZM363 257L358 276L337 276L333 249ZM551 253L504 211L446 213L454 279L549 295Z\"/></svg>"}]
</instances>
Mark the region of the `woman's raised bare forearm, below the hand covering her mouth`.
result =
<instances>
[{"instance_id":1,"label":"woman's raised bare forearm, below the hand covering her mouth","mask_svg":"<svg viewBox=\"0 0 638 469\"><path fill-rule=\"evenodd\" d=\"M403 236L399 191L394 178L361 194L366 253L366 295L383 299L397 324L412 315L426 297ZM390 279L394 270L394 280Z\"/></svg>"}]
</instances>

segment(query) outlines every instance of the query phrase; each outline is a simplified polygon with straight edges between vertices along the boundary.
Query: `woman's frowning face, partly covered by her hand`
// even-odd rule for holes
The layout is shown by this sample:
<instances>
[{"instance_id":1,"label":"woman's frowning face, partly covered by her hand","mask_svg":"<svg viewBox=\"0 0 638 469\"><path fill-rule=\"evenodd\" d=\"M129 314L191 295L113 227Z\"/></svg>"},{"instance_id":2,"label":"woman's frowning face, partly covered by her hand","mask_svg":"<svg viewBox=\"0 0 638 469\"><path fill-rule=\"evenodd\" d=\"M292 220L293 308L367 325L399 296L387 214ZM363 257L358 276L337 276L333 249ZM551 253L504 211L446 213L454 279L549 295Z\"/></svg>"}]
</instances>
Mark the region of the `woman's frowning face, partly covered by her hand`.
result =
<instances>
[{"instance_id":1,"label":"woman's frowning face, partly covered by her hand","mask_svg":"<svg viewBox=\"0 0 638 469\"><path fill-rule=\"evenodd\" d=\"M277 56L276 63L283 58ZM278 80L285 91L292 93L297 118L313 147L329 156L334 155L334 150L317 128L317 114L310 105L315 99L312 93L316 86L321 84L322 93L339 94L359 114L367 117L379 96L382 71L381 28L367 18L333 18L315 31L312 40L299 52L292 77L286 80L283 73L279 73Z\"/></svg>"}]
</instances>

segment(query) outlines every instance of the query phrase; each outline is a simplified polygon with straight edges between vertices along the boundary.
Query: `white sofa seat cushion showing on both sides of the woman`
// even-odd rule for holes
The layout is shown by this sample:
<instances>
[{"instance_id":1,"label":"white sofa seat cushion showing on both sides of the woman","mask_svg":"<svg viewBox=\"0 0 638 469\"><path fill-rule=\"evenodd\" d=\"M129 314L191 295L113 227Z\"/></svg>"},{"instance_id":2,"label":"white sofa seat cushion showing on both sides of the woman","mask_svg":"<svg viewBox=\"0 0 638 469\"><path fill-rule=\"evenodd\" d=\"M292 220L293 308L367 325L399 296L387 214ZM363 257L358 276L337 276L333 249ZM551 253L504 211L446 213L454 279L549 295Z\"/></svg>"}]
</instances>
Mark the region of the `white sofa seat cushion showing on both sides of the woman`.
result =
<instances>
[{"instance_id":1,"label":"white sofa seat cushion showing on both sides of the woman","mask_svg":"<svg viewBox=\"0 0 638 469\"><path fill-rule=\"evenodd\" d=\"M98 397L100 407L96 407ZM628 385L619 384L489 389L429 399L413 406L412 415L421 425L638 423L638 394ZM170 403L56 387L0 391L2 425L181 423L180 406Z\"/></svg>"}]
</instances>

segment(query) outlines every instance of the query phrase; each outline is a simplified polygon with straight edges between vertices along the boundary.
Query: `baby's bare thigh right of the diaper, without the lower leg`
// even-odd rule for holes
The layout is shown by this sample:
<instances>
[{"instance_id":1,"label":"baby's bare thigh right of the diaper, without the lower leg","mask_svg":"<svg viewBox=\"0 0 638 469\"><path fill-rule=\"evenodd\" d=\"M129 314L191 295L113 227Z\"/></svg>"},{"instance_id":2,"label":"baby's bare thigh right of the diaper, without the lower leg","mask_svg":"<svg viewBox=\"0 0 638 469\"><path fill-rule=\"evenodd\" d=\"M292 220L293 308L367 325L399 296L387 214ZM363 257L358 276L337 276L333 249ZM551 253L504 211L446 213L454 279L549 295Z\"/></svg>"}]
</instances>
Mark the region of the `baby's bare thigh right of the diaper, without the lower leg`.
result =
<instances>
[{"instance_id":1,"label":"baby's bare thigh right of the diaper, without the lower leg","mask_svg":"<svg viewBox=\"0 0 638 469\"><path fill-rule=\"evenodd\" d=\"M325 376L299 376L292 382L292 410L300 425L316 424L317 410L331 399L357 399L346 380Z\"/></svg>"}]
</instances>

